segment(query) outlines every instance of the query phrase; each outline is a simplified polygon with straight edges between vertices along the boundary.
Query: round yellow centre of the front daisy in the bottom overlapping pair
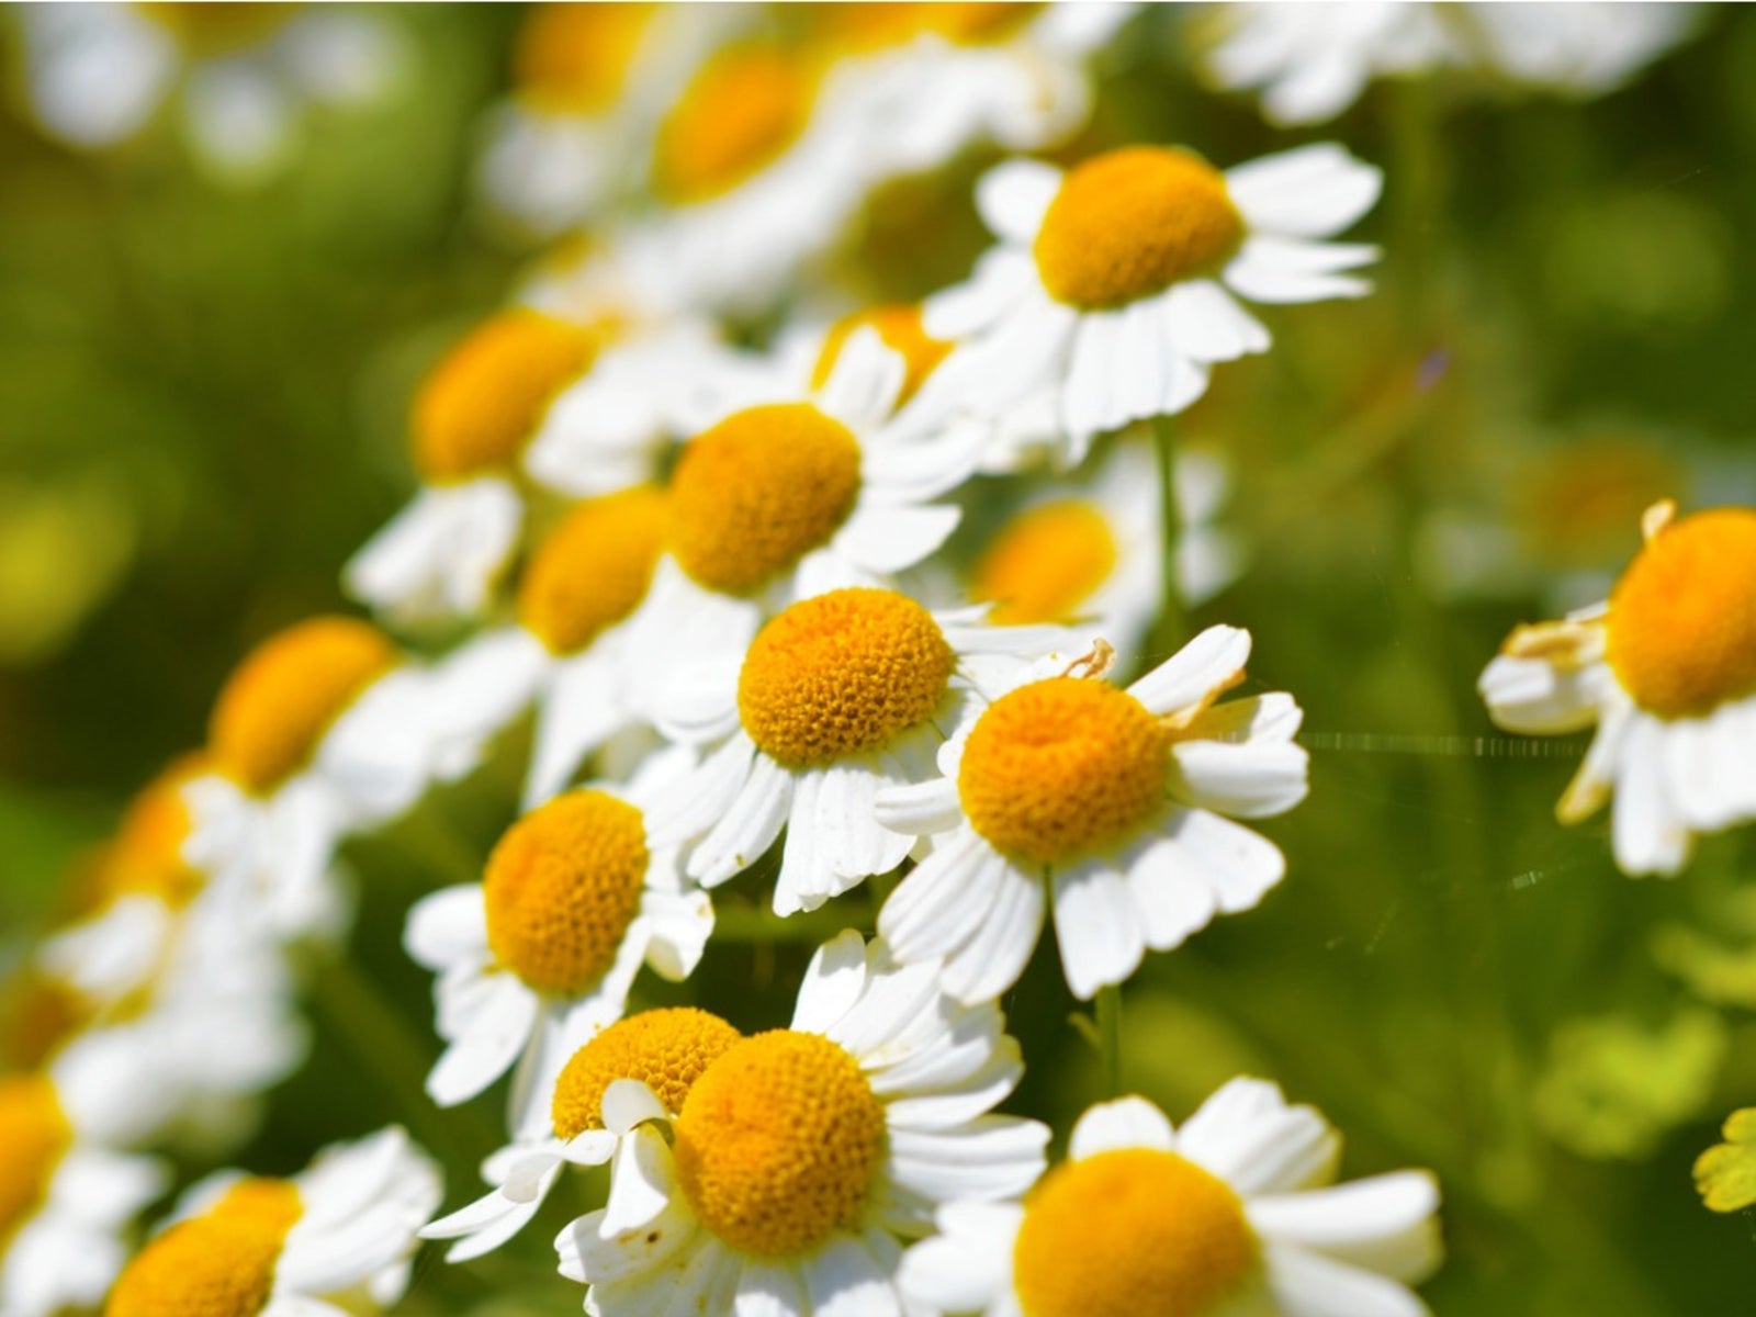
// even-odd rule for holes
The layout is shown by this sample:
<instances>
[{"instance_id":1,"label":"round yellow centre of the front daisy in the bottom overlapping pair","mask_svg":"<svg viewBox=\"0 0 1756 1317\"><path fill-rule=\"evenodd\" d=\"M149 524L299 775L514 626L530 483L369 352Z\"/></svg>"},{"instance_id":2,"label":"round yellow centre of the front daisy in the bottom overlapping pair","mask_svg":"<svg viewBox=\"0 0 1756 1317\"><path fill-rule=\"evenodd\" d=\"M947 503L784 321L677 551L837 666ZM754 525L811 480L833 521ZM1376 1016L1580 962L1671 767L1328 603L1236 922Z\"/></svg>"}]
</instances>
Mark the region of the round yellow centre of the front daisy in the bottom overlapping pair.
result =
<instances>
[{"instance_id":1,"label":"round yellow centre of the front daisy in the bottom overlapping pair","mask_svg":"<svg viewBox=\"0 0 1756 1317\"><path fill-rule=\"evenodd\" d=\"M695 1215L760 1257L859 1227L883 1147L883 1108L859 1062L790 1029L746 1038L708 1066L676 1120L678 1178Z\"/></svg>"}]
</instances>

